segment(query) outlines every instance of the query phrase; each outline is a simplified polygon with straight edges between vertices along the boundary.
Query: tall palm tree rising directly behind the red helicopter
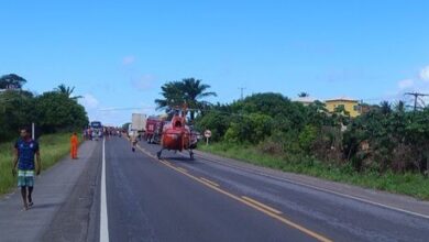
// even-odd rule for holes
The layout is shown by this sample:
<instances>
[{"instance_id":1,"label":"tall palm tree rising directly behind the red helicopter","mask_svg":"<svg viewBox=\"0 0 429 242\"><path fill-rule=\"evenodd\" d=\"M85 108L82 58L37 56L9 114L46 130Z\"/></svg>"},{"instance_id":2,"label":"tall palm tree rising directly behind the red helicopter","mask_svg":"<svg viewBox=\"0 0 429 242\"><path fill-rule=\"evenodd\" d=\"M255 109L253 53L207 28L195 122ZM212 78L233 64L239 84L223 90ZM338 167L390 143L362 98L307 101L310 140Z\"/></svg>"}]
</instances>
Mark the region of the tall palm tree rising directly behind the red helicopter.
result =
<instances>
[{"instance_id":1,"label":"tall palm tree rising directly behind the red helicopter","mask_svg":"<svg viewBox=\"0 0 429 242\"><path fill-rule=\"evenodd\" d=\"M161 95L164 99L156 99L155 103L158 106L158 109L166 109L167 111L172 106L182 106L186 103L190 109L190 120L194 121L196 111L210 105L202 99L210 96L217 96L213 91L207 91L209 88L210 85L201 84L200 79L195 78L185 78L182 81L170 81L161 87Z\"/></svg>"}]
</instances>

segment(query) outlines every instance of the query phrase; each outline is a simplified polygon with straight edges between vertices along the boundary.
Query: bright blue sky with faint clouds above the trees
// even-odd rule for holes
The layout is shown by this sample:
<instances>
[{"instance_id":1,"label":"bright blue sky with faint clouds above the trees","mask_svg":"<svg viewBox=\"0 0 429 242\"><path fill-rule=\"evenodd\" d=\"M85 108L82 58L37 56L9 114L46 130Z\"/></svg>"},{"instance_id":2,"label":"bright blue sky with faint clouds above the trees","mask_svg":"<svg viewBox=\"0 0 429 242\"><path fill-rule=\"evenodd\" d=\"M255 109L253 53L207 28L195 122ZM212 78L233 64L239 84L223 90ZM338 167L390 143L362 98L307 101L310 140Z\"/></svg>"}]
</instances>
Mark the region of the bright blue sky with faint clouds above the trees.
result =
<instances>
[{"instance_id":1,"label":"bright blue sky with faint clouds above the trees","mask_svg":"<svg viewBox=\"0 0 429 242\"><path fill-rule=\"evenodd\" d=\"M154 113L166 81L202 79L231 102L261 91L380 102L429 92L425 0L0 0L0 75L37 94L65 82L91 120ZM138 111L138 110L134 110Z\"/></svg>"}]
</instances>

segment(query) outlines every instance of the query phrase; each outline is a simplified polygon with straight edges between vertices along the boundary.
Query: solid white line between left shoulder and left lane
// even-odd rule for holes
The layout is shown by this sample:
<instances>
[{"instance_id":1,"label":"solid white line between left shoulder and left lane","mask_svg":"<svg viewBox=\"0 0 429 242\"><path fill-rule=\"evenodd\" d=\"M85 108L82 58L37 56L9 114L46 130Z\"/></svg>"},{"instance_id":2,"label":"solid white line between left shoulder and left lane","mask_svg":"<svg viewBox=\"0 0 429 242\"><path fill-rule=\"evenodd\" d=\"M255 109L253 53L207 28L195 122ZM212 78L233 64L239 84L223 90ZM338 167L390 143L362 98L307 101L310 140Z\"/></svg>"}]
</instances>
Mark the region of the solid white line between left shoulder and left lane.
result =
<instances>
[{"instance_id":1,"label":"solid white line between left shoulder and left lane","mask_svg":"<svg viewBox=\"0 0 429 242\"><path fill-rule=\"evenodd\" d=\"M102 139L100 242L109 242L109 221L106 195L106 140Z\"/></svg>"}]
</instances>

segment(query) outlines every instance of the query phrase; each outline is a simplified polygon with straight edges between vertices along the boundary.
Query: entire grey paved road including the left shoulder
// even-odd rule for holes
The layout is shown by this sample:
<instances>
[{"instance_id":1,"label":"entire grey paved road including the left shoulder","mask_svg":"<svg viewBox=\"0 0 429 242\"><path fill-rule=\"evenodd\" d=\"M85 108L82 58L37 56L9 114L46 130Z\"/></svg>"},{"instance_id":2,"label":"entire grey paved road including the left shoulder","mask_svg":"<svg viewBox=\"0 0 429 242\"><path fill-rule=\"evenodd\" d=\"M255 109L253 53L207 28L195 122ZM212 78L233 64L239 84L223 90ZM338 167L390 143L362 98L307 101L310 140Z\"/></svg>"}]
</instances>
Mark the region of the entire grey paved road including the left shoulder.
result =
<instances>
[{"instance_id":1,"label":"entire grey paved road including the left shoulder","mask_svg":"<svg viewBox=\"0 0 429 242\"><path fill-rule=\"evenodd\" d=\"M16 194L0 201L0 230L7 234L0 241L30 241L25 234L31 231L11 232L15 230L11 230L7 216L16 227L25 219L42 220L43 226L33 229L33 241L100 240L102 142L87 142L84 148L88 154L78 164L65 161L37 179L40 188L34 199L38 200L38 208L15 216L11 211L19 209ZM235 167L237 164L215 156L196 155L195 161L189 161L179 153L165 152L164 158L157 161L154 158L157 150L157 145L141 142L133 153L124 139L106 141L108 228L101 235L108 233L110 241L427 241L429 238L429 219L422 217L427 216L424 212L428 202L387 195L389 206L396 200L403 206L400 209L406 209L408 202L417 213L421 210L422 216L414 216L289 183L277 173L267 175L262 169L258 174ZM70 170L64 172L67 169ZM63 193L57 191L58 196L50 191L51 198L57 200L50 206L43 197L48 191L42 191L42 186L47 186L46 183L57 187L52 183L62 178L54 172L73 176L67 179L76 185L64 187ZM61 182L58 187L66 186L61 184L67 183ZM354 193L353 188L350 193Z\"/></svg>"}]
</instances>

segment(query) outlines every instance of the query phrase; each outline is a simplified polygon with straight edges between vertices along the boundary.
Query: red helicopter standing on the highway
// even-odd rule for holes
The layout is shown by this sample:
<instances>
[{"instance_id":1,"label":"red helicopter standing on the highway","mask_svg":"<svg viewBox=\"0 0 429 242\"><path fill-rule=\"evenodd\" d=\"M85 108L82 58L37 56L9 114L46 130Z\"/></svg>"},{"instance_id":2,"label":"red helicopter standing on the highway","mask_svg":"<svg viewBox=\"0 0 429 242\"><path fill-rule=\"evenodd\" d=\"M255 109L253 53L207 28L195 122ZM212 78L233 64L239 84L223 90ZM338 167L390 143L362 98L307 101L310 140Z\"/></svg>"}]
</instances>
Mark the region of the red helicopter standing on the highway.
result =
<instances>
[{"instance_id":1,"label":"red helicopter standing on the highway","mask_svg":"<svg viewBox=\"0 0 429 242\"><path fill-rule=\"evenodd\" d=\"M180 113L182 112L182 113ZM189 152L190 160L194 160L193 148L197 146L198 140L189 125L186 124L187 107L176 109L173 119L169 123L165 123L161 136L161 151L156 156L161 158L164 150L168 151L184 151Z\"/></svg>"}]
</instances>

